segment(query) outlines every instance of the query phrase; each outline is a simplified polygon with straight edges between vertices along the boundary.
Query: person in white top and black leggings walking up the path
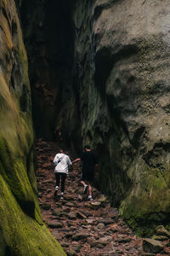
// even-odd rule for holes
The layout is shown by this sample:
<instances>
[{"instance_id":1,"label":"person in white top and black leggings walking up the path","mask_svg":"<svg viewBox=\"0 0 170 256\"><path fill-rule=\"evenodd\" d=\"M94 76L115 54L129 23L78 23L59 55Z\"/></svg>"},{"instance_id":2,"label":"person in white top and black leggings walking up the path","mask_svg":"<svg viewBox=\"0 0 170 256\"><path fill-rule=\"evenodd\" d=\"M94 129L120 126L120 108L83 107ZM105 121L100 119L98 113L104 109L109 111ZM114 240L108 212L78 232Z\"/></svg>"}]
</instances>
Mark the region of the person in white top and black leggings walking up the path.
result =
<instances>
[{"instance_id":1,"label":"person in white top and black leggings walking up the path","mask_svg":"<svg viewBox=\"0 0 170 256\"><path fill-rule=\"evenodd\" d=\"M55 173L55 179L56 179L56 187L54 191L54 195L57 195L57 192L59 190L59 181L61 178L61 197L60 199L63 199L64 192L65 192L65 178L69 172L68 166L71 166L71 160L67 154L64 154L64 151L62 149L59 149L59 153L55 155L54 157L54 173Z\"/></svg>"}]
</instances>

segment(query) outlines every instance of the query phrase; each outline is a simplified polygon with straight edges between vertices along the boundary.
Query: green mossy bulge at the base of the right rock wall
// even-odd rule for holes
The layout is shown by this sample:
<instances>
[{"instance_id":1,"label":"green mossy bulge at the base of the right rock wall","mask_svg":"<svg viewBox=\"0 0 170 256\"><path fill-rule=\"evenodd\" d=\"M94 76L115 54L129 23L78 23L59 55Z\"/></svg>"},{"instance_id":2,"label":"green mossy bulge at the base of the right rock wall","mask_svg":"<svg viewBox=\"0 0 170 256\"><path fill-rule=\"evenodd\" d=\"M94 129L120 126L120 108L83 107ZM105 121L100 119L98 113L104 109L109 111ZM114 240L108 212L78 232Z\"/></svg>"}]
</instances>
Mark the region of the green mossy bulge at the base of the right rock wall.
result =
<instances>
[{"instance_id":1,"label":"green mossy bulge at the base of the right rock wall","mask_svg":"<svg viewBox=\"0 0 170 256\"><path fill-rule=\"evenodd\" d=\"M170 201L166 180L169 180L170 174L158 168L141 167L143 172L139 183L135 183L136 171L131 171L133 187L122 201L120 212L127 224L144 236L152 235L158 224L169 224Z\"/></svg>"}]
</instances>

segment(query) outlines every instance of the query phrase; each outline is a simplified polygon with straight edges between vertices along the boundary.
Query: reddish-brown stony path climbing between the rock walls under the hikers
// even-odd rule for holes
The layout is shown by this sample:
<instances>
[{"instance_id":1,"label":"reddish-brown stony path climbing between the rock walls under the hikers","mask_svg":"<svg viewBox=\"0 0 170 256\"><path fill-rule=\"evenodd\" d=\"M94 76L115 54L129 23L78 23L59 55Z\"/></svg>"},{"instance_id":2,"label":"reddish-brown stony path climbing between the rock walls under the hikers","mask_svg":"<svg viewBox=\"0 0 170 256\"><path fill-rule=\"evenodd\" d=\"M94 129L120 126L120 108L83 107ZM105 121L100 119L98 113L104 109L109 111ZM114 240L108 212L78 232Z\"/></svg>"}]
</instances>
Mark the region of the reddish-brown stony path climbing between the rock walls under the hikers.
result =
<instances>
[{"instance_id":1,"label":"reddish-brown stony path climbing between the rock walls under the hikers","mask_svg":"<svg viewBox=\"0 0 170 256\"><path fill-rule=\"evenodd\" d=\"M105 195L94 189L88 202L79 184L77 164L65 183L65 199L54 197L56 143L37 142L37 182L42 218L67 255L139 255L142 240L135 236L111 207Z\"/></svg>"}]
</instances>

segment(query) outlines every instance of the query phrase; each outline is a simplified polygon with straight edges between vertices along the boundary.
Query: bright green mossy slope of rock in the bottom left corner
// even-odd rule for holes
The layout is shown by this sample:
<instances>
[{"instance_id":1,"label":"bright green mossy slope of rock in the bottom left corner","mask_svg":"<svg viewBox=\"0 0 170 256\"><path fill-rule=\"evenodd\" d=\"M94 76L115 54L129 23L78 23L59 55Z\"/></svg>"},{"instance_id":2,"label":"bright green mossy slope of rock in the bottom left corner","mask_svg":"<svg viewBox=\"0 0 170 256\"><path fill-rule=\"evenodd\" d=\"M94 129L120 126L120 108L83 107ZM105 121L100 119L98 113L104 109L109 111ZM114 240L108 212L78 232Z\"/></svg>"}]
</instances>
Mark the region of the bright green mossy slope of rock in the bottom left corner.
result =
<instances>
[{"instance_id":1,"label":"bright green mossy slope of rock in the bottom left corner","mask_svg":"<svg viewBox=\"0 0 170 256\"><path fill-rule=\"evenodd\" d=\"M10 247L12 255L65 255L46 227L20 210L2 175L0 185L0 226L5 246Z\"/></svg>"}]
</instances>

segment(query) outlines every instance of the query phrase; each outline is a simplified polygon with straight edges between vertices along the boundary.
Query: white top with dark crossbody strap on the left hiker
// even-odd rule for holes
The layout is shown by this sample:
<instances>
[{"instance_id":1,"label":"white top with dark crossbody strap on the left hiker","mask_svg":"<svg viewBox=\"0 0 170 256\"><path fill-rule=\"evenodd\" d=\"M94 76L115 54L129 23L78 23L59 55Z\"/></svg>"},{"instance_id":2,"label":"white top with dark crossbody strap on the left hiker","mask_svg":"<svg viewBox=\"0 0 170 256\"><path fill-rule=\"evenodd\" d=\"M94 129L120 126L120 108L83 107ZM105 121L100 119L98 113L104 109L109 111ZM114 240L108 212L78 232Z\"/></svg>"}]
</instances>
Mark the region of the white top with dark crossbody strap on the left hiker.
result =
<instances>
[{"instance_id":1,"label":"white top with dark crossbody strap on the left hiker","mask_svg":"<svg viewBox=\"0 0 170 256\"><path fill-rule=\"evenodd\" d=\"M68 166L71 166L72 163L68 155L59 153L59 154L56 154L54 157L54 165L55 165L54 172L64 172L68 174L69 172Z\"/></svg>"}]
</instances>

